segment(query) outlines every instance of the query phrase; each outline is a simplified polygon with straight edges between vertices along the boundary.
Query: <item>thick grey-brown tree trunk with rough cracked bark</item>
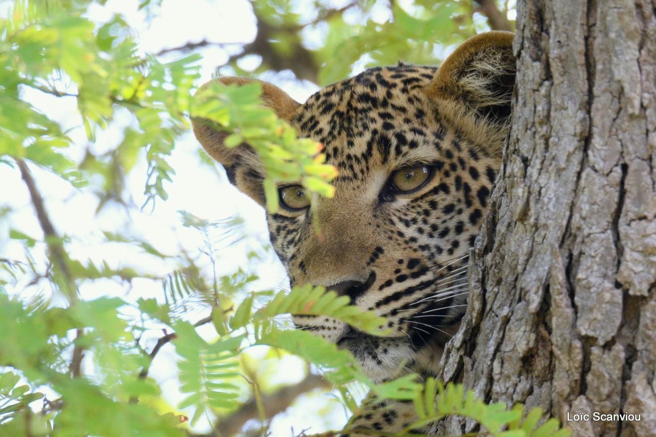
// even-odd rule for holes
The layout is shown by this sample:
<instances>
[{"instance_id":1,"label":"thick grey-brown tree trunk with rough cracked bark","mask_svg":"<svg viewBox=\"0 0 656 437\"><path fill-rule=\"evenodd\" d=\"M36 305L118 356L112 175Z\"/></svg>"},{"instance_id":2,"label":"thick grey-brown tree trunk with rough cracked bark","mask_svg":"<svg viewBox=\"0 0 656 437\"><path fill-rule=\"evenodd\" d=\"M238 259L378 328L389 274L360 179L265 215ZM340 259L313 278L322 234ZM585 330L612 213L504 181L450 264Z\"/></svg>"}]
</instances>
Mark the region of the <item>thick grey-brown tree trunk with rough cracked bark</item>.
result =
<instances>
[{"instance_id":1,"label":"thick grey-brown tree trunk with rough cracked bark","mask_svg":"<svg viewBox=\"0 0 656 437\"><path fill-rule=\"evenodd\" d=\"M655 15L650 0L518 1L512 130L442 358L443 381L579 436L656 435Z\"/></svg>"}]
</instances>

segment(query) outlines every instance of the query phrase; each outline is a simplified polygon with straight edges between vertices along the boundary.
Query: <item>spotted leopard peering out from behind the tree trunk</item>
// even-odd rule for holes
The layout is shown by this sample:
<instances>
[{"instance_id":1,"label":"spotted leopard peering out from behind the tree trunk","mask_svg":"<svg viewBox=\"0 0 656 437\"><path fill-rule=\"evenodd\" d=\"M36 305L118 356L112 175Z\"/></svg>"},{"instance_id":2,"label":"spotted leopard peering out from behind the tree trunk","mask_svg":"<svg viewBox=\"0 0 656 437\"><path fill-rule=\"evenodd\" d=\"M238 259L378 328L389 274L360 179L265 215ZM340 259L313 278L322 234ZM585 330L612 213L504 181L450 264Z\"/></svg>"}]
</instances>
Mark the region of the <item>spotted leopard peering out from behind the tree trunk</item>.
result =
<instances>
[{"instance_id":1,"label":"spotted leopard peering out from behind the tree trunk","mask_svg":"<svg viewBox=\"0 0 656 437\"><path fill-rule=\"evenodd\" d=\"M321 143L325 162L337 169L334 196L315 198L312 208L300 181L279 184L279 209L266 221L290 287L321 285L385 318L389 334L377 337L339 320L293 316L298 329L350 351L375 383L438 375L445 344L459 329L468 257L510 129L513 37L474 35L440 66L368 68L304 103L257 79L204 85L257 81L262 102L299 138ZM266 172L255 150L226 146L228 133L205 119L192 125L228 180L266 207ZM342 435L394 434L415 419L411 402L374 401Z\"/></svg>"}]
</instances>

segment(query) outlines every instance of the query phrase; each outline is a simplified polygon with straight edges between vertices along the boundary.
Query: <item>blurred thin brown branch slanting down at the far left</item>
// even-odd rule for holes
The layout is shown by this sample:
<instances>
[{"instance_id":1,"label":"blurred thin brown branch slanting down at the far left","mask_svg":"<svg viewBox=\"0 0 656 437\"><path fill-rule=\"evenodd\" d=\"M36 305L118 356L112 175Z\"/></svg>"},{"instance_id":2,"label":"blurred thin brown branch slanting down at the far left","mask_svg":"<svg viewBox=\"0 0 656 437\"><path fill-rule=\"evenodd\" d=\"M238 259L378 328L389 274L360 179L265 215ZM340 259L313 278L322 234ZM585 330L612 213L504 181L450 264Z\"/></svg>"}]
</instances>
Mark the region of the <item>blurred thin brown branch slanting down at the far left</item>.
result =
<instances>
[{"instance_id":1,"label":"blurred thin brown branch slanting down at the far left","mask_svg":"<svg viewBox=\"0 0 656 437\"><path fill-rule=\"evenodd\" d=\"M64 250L62 239L54 230L54 226L52 226L52 222L43 203L43 197L41 196L41 193L39 192L34 179L32 178L30 169L28 169L28 165L20 158L14 158L14 160L16 161L18 169L20 170L20 175L28 187L28 191L30 192L32 205L37 215L37 220L39 220L41 230L43 231L45 243L48 247L49 258L51 259L53 266L56 266L63 277L64 281L60 282L59 285L64 289L63 291L68 298L68 301L73 304L75 301L77 301L77 285L75 285L75 278L73 278L73 274L68 268L68 253L66 253L66 250ZM79 344L77 340L79 340L82 335L84 335L84 329L78 328L75 330L75 340L73 341L73 356L68 367L73 377L79 377L79 375L81 375L84 348Z\"/></svg>"}]
</instances>

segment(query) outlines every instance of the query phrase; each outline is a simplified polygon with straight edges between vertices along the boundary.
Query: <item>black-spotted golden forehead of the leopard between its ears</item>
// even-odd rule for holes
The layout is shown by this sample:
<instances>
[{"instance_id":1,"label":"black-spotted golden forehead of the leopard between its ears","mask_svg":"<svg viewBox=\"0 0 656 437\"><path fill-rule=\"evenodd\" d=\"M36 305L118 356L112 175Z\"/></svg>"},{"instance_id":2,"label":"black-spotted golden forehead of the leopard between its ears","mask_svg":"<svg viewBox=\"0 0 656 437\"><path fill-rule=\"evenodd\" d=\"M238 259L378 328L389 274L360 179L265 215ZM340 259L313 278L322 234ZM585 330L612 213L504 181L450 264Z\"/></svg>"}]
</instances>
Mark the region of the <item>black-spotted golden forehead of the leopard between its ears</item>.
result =
<instances>
[{"instance_id":1,"label":"black-spotted golden forehead of the leopard between its ears","mask_svg":"<svg viewBox=\"0 0 656 437\"><path fill-rule=\"evenodd\" d=\"M409 156L420 142L443 137L443 127L427 119L432 106L423 93L435 72L403 65L371 68L311 96L292 123L300 135L325 146L327 161L340 170L338 180L358 180L372 159L384 165Z\"/></svg>"}]
</instances>

